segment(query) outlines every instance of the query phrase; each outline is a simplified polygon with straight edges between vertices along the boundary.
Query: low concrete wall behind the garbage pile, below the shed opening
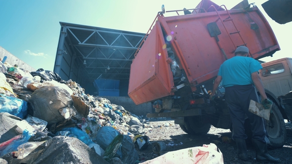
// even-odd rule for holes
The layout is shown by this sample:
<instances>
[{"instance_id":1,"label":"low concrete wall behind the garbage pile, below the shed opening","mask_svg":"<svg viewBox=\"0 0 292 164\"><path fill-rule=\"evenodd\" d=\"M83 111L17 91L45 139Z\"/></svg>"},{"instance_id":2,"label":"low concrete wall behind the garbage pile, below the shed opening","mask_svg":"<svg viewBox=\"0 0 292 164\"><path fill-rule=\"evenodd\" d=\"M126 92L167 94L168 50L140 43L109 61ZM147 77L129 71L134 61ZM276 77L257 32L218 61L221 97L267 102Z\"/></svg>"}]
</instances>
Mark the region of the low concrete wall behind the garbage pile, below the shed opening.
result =
<instances>
[{"instance_id":1,"label":"low concrete wall behind the garbage pile, below the shed opening","mask_svg":"<svg viewBox=\"0 0 292 164\"><path fill-rule=\"evenodd\" d=\"M125 110L138 115L146 116L147 113L152 112L152 104L144 103L136 105L130 97L113 97L113 96L102 96L110 101L111 104L120 105L125 108Z\"/></svg>"}]
</instances>

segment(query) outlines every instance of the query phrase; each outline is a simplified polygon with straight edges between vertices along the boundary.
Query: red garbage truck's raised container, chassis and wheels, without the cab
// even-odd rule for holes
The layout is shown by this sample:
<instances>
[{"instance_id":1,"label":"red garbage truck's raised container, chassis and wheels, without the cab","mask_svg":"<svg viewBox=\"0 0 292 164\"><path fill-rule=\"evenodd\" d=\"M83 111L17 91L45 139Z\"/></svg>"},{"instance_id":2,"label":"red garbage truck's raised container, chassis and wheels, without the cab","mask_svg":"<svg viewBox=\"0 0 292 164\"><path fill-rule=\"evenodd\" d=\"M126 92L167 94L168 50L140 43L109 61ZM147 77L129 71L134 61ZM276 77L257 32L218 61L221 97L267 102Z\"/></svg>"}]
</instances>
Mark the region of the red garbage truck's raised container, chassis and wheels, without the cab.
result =
<instances>
[{"instance_id":1,"label":"red garbage truck's raised container, chassis and wheels, without the cab","mask_svg":"<svg viewBox=\"0 0 292 164\"><path fill-rule=\"evenodd\" d=\"M280 50L269 23L247 0L231 9L210 0L190 9L162 6L131 64L128 95L137 105L152 103L148 118L170 117L188 134L206 134L211 125L232 130L225 88L219 85L214 101L209 94L220 65L242 45L256 60ZM280 148L292 109L268 89L266 94L274 102L265 120L269 147ZM250 132L248 118L245 127Z\"/></svg>"}]
</instances>

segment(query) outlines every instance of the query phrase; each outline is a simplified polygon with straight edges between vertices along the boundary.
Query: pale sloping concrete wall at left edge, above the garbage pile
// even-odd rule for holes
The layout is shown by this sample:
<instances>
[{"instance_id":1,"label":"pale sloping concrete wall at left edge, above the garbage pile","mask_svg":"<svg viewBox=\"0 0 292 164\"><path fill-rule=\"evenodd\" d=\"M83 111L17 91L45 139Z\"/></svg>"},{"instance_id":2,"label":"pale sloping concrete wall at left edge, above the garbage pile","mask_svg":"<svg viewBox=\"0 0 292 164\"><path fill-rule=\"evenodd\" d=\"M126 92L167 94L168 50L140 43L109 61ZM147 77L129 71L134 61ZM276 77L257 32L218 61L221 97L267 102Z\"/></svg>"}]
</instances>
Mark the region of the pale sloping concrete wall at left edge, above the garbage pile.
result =
<instances>
[{"instance_id":1,"label":"pale sloping concrete wall at left edge, above the garbage pile","mask_svg":"<svg viewBox=\"0 0 292 164\"><path fill-rule=\"evenodd\" d=\"M5 62L9 63L10 65L17 64L18 68L22 68L26 71L33 72L36 71L33 67L30 65L26 64L22 60L18 59L16 56L12 55L10 52L8 52L6 49L0 46L0 58L4 58L4 56L7 56L7 59Z\"/></svg>"}]
</instances>

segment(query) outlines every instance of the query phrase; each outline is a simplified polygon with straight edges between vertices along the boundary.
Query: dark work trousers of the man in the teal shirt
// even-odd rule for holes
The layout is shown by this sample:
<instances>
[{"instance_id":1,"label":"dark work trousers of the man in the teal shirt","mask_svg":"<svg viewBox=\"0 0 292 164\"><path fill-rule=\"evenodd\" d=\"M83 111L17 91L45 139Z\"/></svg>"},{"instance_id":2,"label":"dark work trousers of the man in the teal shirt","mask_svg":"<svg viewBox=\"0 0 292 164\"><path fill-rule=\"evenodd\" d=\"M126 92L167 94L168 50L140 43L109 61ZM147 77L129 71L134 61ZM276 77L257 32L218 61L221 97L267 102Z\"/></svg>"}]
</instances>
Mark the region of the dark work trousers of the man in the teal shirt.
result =
<instances>
[{"instance_id":1,"label":"dark work trousers of the man in the teal shirt","mask_svg":"<svg viewBox=\"0 0 292 164\"><path fill-rule=\"evenodd\" d=\"M225 100L228 104L232 121L232 139L247 138L244 133L244 118L246 114L250 120L252 138L264 143L270 143L269 139L266 137L264 120L248 112L250 100L259 102L255 87L252 84L226 87Z\"/></svg>"}]
</instances>

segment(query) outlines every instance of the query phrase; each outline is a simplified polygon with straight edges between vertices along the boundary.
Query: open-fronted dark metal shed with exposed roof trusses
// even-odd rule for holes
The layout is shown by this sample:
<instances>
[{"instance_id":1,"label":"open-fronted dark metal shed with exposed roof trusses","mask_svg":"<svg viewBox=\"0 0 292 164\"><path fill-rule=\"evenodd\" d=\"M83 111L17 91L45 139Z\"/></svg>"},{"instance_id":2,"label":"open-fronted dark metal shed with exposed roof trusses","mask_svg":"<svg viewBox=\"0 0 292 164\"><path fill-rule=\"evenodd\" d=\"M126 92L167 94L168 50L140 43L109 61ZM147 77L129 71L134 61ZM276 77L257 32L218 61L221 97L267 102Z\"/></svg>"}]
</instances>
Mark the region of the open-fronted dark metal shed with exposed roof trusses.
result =
<instances>
[{"instance_id":1,"label":"open-fronted dark metal shed with exposed roof trusses","mask_svg":"<svg viewBox=\"0 0 292 164\"><path fill-rule=\"evenodd\" d=\"M60 22L54 72L94 94L94 81L120 81L120 96L128 95L130 67L146 34Z\"/></svg>"}]
</instances>

